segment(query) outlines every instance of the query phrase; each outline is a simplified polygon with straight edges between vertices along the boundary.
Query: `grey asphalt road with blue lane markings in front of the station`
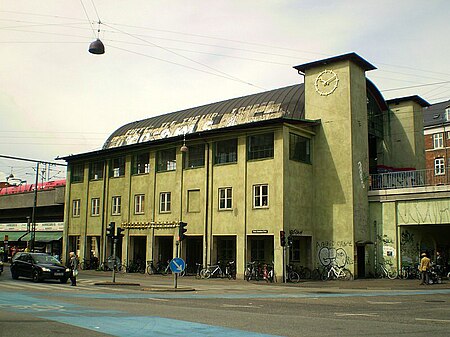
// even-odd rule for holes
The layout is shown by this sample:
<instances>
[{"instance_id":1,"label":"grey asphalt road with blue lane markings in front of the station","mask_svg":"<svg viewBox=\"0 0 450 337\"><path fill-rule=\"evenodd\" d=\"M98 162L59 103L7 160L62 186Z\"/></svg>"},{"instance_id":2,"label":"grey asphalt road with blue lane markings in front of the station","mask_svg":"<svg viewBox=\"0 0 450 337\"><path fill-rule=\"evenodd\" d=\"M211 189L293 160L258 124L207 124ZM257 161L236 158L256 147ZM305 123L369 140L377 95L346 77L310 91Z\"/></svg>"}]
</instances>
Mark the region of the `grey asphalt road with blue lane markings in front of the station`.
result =
<instances>
[{"instance_id":1,"label":"grey asphalt road with blue lane markings in front of the station","mask_svg":"<svg viewBox=\"0 0 450 337\"><path fill-rule=\"evenodd\" d=\"M0 276L0 336L449 336L450 284L243 280L82 271L78 286ZM449 282L449 281L447 281ZM103 285L96 285L103 284ZM124 285L135 284L135 285Z\"/></svg>"}]
</instances>

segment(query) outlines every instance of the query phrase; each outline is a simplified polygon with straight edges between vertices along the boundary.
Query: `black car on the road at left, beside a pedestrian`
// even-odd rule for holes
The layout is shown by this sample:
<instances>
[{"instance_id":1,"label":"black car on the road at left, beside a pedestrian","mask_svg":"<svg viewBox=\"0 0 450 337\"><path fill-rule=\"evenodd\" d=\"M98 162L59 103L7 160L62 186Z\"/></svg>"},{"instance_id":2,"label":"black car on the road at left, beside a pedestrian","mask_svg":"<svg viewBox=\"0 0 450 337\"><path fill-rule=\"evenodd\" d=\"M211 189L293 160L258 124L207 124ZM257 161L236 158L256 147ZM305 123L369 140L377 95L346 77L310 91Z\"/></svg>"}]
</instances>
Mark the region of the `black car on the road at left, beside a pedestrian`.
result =
<instances>
[{"instance_id":1,"label":"black car on the road at left, beside a pedestrian","mask_svg":"<svg viewBox=\"0 0 450 337\"><path fill-rule=\"evenodd\" d=\"M57 279L61 283L66 283L70 276L69 268L54 256L45 253L18 253L12 259L10 269L11 276L15 280L22 276L31 278L34 282Z\"/></svg>"}]
</instances>

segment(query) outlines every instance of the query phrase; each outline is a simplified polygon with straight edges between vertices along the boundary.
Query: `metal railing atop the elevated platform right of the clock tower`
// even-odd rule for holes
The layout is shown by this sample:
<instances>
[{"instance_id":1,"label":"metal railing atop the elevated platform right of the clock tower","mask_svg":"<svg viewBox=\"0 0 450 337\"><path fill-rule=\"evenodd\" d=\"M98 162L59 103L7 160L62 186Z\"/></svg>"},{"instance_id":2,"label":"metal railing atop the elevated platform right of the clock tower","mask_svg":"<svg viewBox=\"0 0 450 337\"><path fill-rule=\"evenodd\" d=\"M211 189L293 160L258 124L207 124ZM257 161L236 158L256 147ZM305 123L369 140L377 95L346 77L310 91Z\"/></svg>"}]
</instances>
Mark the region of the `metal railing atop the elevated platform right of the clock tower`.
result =
<instances>
[{"instance_id":1,"label":"metal railing atop the elevated platform right of the clock tower","mask_svg":"<svg viewBox=\"0 0 450 337\"><path fill-rule=\"evenodd\" d=\"M436 174L434 169L397 171L370 175L371 190L411 188L423 186L450 185L450 167L444 174Z\"/></svg>"}]
</instances>

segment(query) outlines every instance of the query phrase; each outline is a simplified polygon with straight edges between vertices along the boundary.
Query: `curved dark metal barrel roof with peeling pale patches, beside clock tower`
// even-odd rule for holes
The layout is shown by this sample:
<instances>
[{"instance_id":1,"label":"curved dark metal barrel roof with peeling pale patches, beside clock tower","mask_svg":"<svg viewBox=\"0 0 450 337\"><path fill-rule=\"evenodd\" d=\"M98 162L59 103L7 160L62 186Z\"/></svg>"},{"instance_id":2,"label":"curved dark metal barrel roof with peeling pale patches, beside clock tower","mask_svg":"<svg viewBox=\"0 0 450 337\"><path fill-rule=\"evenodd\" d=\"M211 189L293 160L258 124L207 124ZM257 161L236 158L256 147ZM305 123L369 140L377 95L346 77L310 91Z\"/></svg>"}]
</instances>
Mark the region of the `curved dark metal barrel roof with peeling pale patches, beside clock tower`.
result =
<instances>
[{"instance_id":1,"label":"curved dark metal barrel roof with peeling pale patches, beside clock tower","mask_svg":"<svg viewBox=\"0 0 450 337\"><path fill-rule=\"evenodd\" d=\"M125 124L109 136L103 149L277 118L295 120L305 118L303 84Z\"/></svg>"}]
</instances>

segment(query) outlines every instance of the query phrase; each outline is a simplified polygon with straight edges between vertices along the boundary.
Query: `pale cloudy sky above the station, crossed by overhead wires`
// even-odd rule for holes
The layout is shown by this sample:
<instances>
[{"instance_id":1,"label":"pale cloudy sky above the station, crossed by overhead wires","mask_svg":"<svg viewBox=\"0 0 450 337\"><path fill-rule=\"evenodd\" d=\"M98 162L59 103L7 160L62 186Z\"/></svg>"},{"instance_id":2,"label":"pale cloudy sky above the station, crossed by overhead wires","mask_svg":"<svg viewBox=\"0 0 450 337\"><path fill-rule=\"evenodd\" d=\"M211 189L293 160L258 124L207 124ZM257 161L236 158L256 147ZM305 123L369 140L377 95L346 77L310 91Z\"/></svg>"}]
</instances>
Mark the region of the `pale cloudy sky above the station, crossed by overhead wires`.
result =
<instances>
[{"instance_id":1,"label":"pale cloudy sky above the station, crossed by overhead wires","mask_svg":"<svg viewBox=\"0 0 450 337\"><path fill-rule=\"evenodd\" d=\"M293 66L348 52L377 67L385 99L442 102L448 13L448 0L1 0L0 156L64 164L129 122L301 83ZM88 52L97 38L103 55ZM0 157L0 182L35 168Z\"/></svg>"}]
</instances>

